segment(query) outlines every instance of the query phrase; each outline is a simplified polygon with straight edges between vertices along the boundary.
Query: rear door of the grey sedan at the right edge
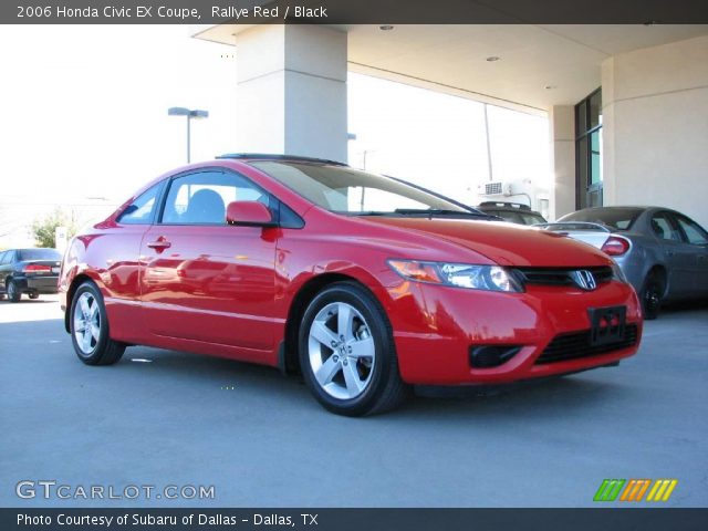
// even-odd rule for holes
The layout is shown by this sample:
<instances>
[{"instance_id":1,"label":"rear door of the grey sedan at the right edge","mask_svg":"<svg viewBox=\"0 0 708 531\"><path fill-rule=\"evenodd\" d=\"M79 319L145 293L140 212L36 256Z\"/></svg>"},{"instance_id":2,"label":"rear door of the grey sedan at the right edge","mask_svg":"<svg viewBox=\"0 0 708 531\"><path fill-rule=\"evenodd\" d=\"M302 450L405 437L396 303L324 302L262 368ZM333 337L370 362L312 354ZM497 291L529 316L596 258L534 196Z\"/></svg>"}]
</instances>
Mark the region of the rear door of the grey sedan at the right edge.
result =
<instances>
[{"instance_id":1,"label":"rear door of the grey sedan at the right edge","mask_svg":"<svg viewBox=\"0 0 708 531\"><path fill-rule=\"evenodd\" d=\"M695 290L695 256L687 249L680 229L671 212L658 211L652 216L650 227L658 238L668 273L668 298L685 298Z\"/></svg>"}]
</instances>

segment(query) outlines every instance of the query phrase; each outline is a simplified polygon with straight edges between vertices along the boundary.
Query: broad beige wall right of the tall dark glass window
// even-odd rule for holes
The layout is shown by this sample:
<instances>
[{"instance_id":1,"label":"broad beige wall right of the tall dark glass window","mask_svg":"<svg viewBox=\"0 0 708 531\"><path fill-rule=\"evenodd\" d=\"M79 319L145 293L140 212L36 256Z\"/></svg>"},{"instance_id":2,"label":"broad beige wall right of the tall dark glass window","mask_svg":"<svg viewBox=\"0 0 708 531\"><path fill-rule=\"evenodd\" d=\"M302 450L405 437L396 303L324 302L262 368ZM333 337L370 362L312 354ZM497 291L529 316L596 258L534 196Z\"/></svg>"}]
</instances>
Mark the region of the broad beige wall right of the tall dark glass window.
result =
<instances>
[{"instance_id":1,"label":"broad beige wall right of the tall dark glass window","mask_svg":"<svg viewBox=\"0 0 708 531\"><path fill-rule=\"evenodd\" d=\"M658 205L708 227L708 37L602 64L605 205Z\"/></svg>"}]
</instances>

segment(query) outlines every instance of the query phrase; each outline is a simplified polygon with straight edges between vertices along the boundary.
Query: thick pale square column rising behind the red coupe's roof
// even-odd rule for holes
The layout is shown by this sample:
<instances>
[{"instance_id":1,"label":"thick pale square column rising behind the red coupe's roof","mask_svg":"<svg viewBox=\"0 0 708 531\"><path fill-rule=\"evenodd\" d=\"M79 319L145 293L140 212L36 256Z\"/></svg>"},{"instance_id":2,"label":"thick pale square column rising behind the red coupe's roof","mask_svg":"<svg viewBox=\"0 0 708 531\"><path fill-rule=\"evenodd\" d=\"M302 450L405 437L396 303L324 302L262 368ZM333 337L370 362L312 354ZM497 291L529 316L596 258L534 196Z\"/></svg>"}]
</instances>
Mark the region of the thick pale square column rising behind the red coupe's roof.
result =
<instances>
[{"instance_id":1,"label":"thick pale square column rising behind the red coupe's roof","mask_svg":"<svg viewBox=\"0 0 708 531\"><path fill-rule=\"evenodd\" d=\"M346 162L346 33L263 24L236 49L238 149Z\"/></svg>"}]
</instances>

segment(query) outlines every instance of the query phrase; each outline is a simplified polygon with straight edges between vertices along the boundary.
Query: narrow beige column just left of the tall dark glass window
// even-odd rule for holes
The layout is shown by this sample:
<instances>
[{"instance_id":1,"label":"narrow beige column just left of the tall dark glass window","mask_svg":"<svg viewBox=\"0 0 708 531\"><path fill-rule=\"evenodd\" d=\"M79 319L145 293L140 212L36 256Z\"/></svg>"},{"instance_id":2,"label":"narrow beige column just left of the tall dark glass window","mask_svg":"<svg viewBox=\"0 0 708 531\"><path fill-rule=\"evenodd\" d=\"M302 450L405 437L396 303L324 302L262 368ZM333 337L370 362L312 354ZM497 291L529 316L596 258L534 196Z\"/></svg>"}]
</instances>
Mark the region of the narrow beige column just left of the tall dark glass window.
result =
<instances>
[{"instance_id":1,"label":"narrow beige column just left of the tall dark glass window","mask_svg":"<svg viewBox=\"0 0 708 531\"><path fill-rule=\"evenodd\" d=\"M549 111L553 194L551 219L575 210L575 116L572 105L554 105Z\"/></svg>"}]
</instances>

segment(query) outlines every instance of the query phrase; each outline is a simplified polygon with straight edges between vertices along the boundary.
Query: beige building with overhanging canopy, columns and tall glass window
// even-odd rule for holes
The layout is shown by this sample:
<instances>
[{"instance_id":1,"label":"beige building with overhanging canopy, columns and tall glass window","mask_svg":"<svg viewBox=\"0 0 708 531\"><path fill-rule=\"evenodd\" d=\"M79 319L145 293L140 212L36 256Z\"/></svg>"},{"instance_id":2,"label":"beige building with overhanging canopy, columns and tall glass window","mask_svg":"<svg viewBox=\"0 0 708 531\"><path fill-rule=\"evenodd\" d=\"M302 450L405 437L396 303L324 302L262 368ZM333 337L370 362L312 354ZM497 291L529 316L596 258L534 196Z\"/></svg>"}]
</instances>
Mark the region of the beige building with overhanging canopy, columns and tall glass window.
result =
<instances>
[{"instance_id":1,"label":"beige building with overhanging canopy, columns and tall glass window","mask_svg":"<svg viewBox=\"0 0 708 531\"><path fill-rule=\"evenodd\" d=\"M221 24L194 34L236 46L241 150L345 159L353 71L548 113L552 218L662 205L708 226L708 25Z\"/></svg>"}]
</instances>

